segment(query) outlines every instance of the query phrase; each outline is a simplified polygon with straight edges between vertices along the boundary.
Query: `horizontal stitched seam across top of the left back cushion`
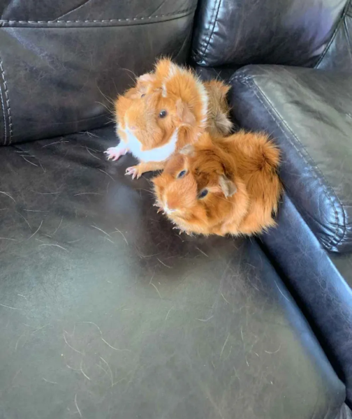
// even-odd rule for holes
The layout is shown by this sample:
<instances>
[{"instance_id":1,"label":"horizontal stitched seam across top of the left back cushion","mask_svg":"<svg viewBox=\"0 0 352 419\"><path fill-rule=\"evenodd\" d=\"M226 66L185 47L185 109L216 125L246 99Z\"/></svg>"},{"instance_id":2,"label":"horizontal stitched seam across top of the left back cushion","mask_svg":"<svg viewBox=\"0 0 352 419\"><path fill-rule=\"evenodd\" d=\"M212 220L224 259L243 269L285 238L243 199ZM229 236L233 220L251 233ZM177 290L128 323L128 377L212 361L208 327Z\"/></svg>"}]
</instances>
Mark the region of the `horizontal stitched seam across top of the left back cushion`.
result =
<instances>
[{"instance_id":1,"label":"horizontal stitched seam across top of the left back cushion","mask_svg":"<svg viewBox=\"0 0 352 419\"><path fill-rule=\"evenodd\" d=\"M138 21L144 21L144 20L149 20L149 19L159 19L160 17L183 15L184 13L188 13L188 12L193 13L195 10L196 9L194 7L190 7L184 10L178 10L177 12L166 13L164 15L152 15L152 16L144 16L144 17L126 17L124 19L105 19L105 20L0 20L0 27L3 27L6 24L12 25L14 23L55 25L55 24L61 24L61 23L85 24L85 23L138 22Z\"/></svg>"}]
</instances>

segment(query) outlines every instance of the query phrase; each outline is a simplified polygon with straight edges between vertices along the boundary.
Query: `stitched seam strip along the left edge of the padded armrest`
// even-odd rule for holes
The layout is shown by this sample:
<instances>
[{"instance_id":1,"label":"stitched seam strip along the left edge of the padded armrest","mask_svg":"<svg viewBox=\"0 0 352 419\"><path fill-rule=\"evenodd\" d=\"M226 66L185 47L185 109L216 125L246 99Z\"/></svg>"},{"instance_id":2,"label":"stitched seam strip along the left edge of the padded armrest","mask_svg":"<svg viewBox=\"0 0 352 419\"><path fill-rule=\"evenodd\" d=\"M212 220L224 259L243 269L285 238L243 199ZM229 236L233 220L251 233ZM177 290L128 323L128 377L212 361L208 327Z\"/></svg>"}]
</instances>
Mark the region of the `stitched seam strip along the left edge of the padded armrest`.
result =
<instances>
[{"instance_id":1,"label":"stitched seam strip along the left edge of the padded armrest","mask_svg":"<svg viewBox=\"0 0 352 419\"><path fill-rule=\"evenodd\" d=\"M305 149L305 147L302 145L302 142L300 142L300 140L297 138L297 136L295 135L295 133L293 133L293 131L288 126L288 124L286 123L286 121L281 117L281 115L279 115L279 113L274 108L274 106L272 105L272 103L270 102L270 100L267 98L267 96L264 94L264 92L261 90L261 88L258 87L258 84L256 84L254 78L251 77L251 76L247 76L247 77L244 77L244 78L241 79L240 76L237 76L236 75L236 78L233 78L233 80L237 80L239 82L243 82L244 84L247 84L247 87L254 87L253 92L256 95L256 97L258 98L258 101L261 102L261 104L267 110L267 112L270 115L270 117L272 117L272 120L277 125L277 127L279 128L279 130L284 134L284 136L288 140L288 142L290 142L290 144L293 145L293 147L298 152L298 154L302 157L302 159L305 161L305 163L309 166L309 170L313 173L313 175L316 178L316 180L318 180L319 184L321 184L321 187L323 188L323 191L325 192L325 196L330 201L330 204L332 205L332 208L333 208L334 214L335 214L335 231L334 231L334 235L330 238L330 240L328 240L328 244L325 244L325 247L328 250L331 250L332 249L332 246L334 246L336 248L339 245L339 243L342 242L342 240L344 239L344 236L346 235L346 214L345 214L345 211L344 211L344 206L342 205L341 201L339 200L339 198L337 197L337 195L335 193L333 193L335 200L337 200L337 202L339 203L339 205L341 207L341 210L342 210L342 214L343 214L342 224L339 223L339 213L337 212L337 208L335 206L334 201L332 200L332 197L330 196L330 193L328 193L328 188L331 191L333 191L333 189L330 186L329 182L325 179L325 177L324 177L323 173L321 172L321 170L318 169L318 166L316 165L316 163L314 163L314 160L311 158L311 156L307 152L307 149ZM251 81L252 86L249 84L250 81ZM256 90L258 90L261 93L261 95L263 96L263 98L267 102L267 105L269 105L270 108L272 108L272 111L275 112L275 114L277 115L277 118L274 117L274 115L272 114L272 111L268 108L267 105L265 105L265 102L258 95L258 93L257 93ZM295 138L295 140L298 142L298 144L300 145L301 149L305 151L305 153L307 154L307 157L309 158L310 162L307 161L305 155L302 154L302 150L300 150L297 147L297 145L295 145L294 142L291 140L290 136L287 135L286 131L284 130L284 128L282 128L281 124L279 124L279 121L277 119L279 119L279 121L281 121L282 124L284 124L284 126L286 126L287 130L291 133L291 135L293 136L293 138ZM316 171L318 171L318 172L316 172ZM324 184L324 182L325 182L325 184ZM339 237L339 228L340 228L340 226L342 226L342 228L343 228L341 237Z\"/></svg>"}]
</instances>

